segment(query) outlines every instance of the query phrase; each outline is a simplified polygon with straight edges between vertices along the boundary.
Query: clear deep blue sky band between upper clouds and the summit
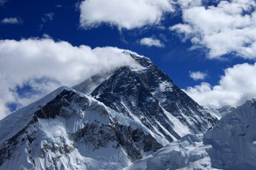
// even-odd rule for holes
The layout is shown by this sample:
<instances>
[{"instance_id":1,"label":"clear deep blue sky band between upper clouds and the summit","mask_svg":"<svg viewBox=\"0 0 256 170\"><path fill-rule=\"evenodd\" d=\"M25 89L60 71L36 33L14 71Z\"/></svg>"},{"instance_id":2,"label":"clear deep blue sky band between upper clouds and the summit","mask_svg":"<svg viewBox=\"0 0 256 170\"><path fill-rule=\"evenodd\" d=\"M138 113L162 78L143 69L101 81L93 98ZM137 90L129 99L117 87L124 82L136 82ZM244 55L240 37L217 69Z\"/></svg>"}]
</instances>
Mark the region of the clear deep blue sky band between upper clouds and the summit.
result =
<instances>
[{"instance_id":1,"label":"clear deep blue sky band between upper clouds and the summit","mask_svg":"<svg viewBox=\"0 0 256 170\"><path fill-rule=\"evenodd\" d=\"M94 47L114 46L130 49L149 57L160 69L165 71L181 88L199 84L189 77L189 71L207 72L206 81L212 85L218 83L223 69L244 60L209 60L204 51L189 51L191 43L181 42L178 36L169 30L159 30L147 26L133 30L118 31L115 26L102 25L98 28L84 30L79 27L80 12L76 9L78 1L8 1L0 7L0 19L19 17L23 22L19 25L0 25L0 39L39 37L49 34L56 41L68 41L73 46L85 44ZM62 5L61 7L56 7ZM52 20L43 22L44 14L54 13ZM181 23L180 16L168 16L163 25ZM41 26L43 25L43 26ZM138 44L138 40L147 36L163 34L167 39L165 47L147 47ZM124 40L126 42L124 42Z\"/></svg>"}]
</instances>

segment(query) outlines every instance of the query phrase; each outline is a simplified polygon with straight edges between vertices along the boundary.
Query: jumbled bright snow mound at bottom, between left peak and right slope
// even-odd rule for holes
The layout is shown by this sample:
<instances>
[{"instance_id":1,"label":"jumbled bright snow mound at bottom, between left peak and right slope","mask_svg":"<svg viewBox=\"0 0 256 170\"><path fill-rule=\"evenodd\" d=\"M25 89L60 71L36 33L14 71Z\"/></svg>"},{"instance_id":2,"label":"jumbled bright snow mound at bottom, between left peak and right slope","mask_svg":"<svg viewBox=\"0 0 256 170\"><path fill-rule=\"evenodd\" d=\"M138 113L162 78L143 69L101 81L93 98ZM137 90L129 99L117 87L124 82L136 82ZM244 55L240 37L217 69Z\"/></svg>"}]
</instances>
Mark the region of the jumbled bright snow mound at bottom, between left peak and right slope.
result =
<instances>
[{"instance_id":1,"label":"jumbled bright snow mound at bottom, between left peak and right slope","mask_svg":"<svg viewBox=\"0 0 256 170\"><path fill-rule=\"evenodd\" d=\"M210 147L203 145L202 135L188 134L131 164L125 170L212 169L209 154L206 152Z\"/></svg>"}]
</instances>

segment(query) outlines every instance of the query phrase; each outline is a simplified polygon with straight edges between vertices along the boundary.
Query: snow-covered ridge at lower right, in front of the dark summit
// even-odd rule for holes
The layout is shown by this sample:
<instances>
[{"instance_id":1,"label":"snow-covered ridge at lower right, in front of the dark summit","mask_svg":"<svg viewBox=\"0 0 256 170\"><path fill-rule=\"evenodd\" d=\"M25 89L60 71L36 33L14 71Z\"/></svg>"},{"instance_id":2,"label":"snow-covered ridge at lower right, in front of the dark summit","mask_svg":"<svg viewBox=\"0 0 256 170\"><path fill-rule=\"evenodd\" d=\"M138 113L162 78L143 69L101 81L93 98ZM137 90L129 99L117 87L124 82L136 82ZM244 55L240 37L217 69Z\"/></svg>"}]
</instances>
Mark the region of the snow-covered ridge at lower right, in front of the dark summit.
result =
<instances>
[{"instance_id":1,"label":"snow-covered ridge at lower right, in front of the dark summit","mask_svg":"<svg viewBox=\"0 0 256 170\"><path fill-rule=\"evenodd\" d=\"M188 134L128 169L256 169L256 99L226 113L204 136Z\"/></svg>"}]
</instances>

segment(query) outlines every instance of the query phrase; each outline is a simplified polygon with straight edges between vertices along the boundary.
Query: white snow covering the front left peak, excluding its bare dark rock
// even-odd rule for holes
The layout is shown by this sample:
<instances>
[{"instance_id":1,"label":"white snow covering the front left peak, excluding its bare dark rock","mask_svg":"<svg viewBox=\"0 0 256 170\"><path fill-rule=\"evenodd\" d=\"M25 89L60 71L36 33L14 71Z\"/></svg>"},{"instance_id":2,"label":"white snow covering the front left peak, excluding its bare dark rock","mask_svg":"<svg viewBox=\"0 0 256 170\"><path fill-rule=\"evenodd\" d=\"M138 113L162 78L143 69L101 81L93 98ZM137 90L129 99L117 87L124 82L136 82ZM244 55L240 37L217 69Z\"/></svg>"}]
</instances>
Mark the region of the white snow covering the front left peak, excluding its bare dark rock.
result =
<instances>
[{"instance_id":1,"label":"white snow covering the front left peak, excluding its bare dark rock","mask_svg":"<svg viewBox=\"0 0 256 170\"><path fill-rule=\"evenodd\" d=\"M87 110L81 110L81 105L75 102L76 99L74 99L68 101L70 103L67 108L63 108L68 113L68 115L65 115L67 117L57 115L55 118L49 119L38 118L35 123L28 125L35 111L44 107L64 90L75 92L78 97L86 97L89 102ZM74 110L76 112L73 112ZM19 113L19 116L15 115L17 113ZM14 119L15 121L12 121L12 118L16 118ZM22 118L25 119L21 121ZM14 148L12 151L13 156L4 161L0 169L33 169L34 166L38 169L125 168L131 164L131 161L123 147L118 147L115 140L107 142L105 147L94 148L93 143L83 142L83 140L79 142L79 140L76 141L71 136L71 134L83 129L86 124L97 123L99 126L109 126L110 120L114 122L114 119L117 119L118 124L131 126L131 129L142 129L144 134L151 134L162 145L168 144L167 140L154 134L141 122L105 107L103 103L98 102L93 97L88 97L68 87L60 87L19 112L12 113L12 115L7 116L0 122L3 129L0 132L2 137L1 145L27 126L25 132L15 139L20 142L17 144L16 149ZM8 128L4 128L4 125ZM35 139L32 143L29 143L26 139L28 136L33 137L33 134L36 134ZM144 156L148 154L144 153Z\"/></svg>"}]
</instances>

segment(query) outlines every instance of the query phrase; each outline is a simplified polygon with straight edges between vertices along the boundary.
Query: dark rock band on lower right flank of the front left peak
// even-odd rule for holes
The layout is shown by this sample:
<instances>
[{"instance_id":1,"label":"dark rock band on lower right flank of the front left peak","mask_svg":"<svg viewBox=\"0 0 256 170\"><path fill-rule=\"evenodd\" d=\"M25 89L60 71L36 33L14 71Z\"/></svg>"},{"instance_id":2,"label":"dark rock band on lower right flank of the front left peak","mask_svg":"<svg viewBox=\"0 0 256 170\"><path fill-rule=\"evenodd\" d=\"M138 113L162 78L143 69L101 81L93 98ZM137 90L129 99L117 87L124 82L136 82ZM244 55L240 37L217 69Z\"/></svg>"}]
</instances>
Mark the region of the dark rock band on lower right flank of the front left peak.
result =
<instances>
[{"instance_id":1,"label":"dark rock band on lower right flank of the front left peak","mask_svg":"<svg viewBox=\"0 0 256 170\"><path fill-rule=\"evenodd\" d=\"M112 147L122 147L132 162L143 158L144 152L155 152L163 147L151 134L142 129L120 125L117 120L111 121L109 125L86 124L83 129L75 132L72 136L78 144L92 144L93 150L107 147L110 141L115 141L116 145Z\"/></svg>"}]
</instances>

